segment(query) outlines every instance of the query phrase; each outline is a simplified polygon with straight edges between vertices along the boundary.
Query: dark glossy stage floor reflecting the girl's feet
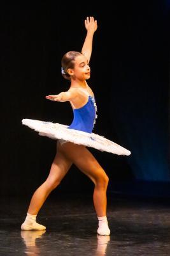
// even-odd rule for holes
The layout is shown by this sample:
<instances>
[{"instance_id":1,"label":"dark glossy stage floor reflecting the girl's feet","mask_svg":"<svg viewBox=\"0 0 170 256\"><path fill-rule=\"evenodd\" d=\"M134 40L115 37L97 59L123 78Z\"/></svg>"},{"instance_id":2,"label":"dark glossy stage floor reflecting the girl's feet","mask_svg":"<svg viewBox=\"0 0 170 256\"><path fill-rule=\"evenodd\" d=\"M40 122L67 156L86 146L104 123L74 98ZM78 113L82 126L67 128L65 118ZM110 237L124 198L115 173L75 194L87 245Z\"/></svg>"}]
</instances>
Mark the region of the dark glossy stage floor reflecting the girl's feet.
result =
<instances>
[{"instance_id":1,"label":"dark glossy stage floor reflecting the girl's feet","mask_svg":"<svg viewBox=\"0 0 170 256\"><path fill-rule=\"evenodd\" d=\"M92 195L50 195L37 221L46 230L20 225L30 198L1 197L0 255L170 255L170 204L166 200L108 195L110 236L98 236Z\"/></svg>"}]
</instances>

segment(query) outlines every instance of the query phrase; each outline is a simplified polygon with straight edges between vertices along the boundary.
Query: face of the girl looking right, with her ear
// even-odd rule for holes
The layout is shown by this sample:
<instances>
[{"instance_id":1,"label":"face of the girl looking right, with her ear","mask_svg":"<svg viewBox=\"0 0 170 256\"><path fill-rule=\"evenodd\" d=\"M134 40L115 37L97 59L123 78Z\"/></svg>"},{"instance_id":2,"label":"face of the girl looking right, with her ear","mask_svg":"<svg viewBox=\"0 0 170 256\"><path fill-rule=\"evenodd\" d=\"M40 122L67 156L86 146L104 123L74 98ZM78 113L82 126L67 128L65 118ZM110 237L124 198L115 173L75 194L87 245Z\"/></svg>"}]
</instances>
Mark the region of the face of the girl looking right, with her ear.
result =
<instances>
[{"instance_id":1,"label":"face of the girl looking right, with her ear","mask_svg":"<svg viewBox=\"0 0 170 256\"><path fill-rule=\"evenodd\" d=\"M74 68L69 68L67 72L72 79L86 80L90 78L90 67L85 55L76 56Z\"/></svg>"}]
</instances>

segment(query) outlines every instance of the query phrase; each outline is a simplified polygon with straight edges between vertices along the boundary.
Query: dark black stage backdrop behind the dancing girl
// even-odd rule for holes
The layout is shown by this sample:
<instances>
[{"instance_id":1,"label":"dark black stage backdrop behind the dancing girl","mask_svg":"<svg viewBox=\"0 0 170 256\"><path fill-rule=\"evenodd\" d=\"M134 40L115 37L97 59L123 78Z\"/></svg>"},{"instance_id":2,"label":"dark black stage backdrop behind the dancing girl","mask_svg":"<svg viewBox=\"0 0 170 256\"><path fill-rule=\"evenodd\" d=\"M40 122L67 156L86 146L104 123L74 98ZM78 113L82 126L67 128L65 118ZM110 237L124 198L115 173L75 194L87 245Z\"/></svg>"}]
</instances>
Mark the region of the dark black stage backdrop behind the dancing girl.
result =
<instances>
[{"instance_id":1,"label":"dark black stage backdrop behind the dancing girl","mask_svg":"<svg viewBox=\"0 0 170 256\"><path fill-rule=\"evenodd\" d=\"M71 124L69 102L52 102L45 95L69 88L60 60L67 51L81 51L87 16L98 22L88 81L98 108L94 132L132 152L117 156L89 148L110 177L108 191L170 195L170 4L124 2L1 6L1 195L30 196L48 176L56 143L21 120ZM72 166L52 194L92 189Z\"/></svg>"}]
</instances>

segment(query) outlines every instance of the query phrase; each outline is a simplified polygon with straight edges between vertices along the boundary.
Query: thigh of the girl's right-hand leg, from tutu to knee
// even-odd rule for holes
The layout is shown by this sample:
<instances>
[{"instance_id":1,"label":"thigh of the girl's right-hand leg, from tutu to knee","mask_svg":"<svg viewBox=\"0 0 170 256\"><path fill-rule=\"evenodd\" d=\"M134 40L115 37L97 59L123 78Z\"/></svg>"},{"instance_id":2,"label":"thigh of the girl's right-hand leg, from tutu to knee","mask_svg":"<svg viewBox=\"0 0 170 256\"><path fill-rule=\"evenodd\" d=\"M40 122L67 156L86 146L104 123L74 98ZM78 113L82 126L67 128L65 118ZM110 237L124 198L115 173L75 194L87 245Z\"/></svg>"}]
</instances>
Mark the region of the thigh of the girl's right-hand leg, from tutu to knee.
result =
<instances>
[{"instance_id":1,"label":"thigh of the girl's right-hand leg, from tutu to knee","mask_svg":"<svg viewBox=\"0 0 170 256\"><path fill-rule=\"evenodd\" d=\"M85 146L68 142L64 143L62 146L59 145L59 147L64 155L95 184L99 179L108 179L101 165Z\"/></svg>"}]
</instances>

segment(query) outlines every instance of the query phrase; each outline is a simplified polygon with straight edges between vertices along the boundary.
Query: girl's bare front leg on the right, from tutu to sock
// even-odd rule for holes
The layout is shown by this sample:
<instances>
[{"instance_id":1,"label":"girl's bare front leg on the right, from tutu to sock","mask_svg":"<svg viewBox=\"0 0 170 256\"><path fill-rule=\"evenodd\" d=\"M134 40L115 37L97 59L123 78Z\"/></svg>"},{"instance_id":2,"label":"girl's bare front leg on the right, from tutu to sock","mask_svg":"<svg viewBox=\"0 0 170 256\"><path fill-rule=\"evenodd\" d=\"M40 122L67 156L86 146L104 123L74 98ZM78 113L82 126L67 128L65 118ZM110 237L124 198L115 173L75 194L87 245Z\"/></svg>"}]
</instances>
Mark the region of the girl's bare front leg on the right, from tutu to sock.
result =
<instances>
[{"instance_id":1,"label":"girl's bare front leg on the right, from tutu to sock","mask_svg":"<svg viewBox=\"0 0 170 256\"><path fill-rule=\"evenodd\" d=\"M90 151L83 145L65 143L60 150L94 182L94 207L97 216L106 216L108 176Z\"/></svg>"}]
</instances>

